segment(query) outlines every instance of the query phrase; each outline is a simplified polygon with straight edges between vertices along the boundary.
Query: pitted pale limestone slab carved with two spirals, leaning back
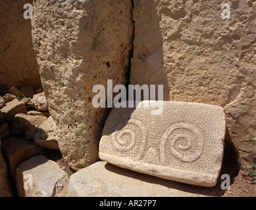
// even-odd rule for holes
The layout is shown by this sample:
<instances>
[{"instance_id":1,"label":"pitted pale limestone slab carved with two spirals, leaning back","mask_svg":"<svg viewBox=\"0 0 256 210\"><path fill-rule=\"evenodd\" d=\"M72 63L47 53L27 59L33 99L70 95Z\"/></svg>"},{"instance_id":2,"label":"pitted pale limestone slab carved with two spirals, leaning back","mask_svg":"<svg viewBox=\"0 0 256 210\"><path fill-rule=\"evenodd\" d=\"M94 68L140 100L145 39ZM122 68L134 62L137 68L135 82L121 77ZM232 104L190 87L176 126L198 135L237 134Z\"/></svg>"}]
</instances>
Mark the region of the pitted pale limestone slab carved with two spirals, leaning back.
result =
<instances>
[{"instance_id":1,"label":"pitted pale limestone slab carved with two spirals, leaning back","mask_svg":"<svg viewBox=\"0 0 256 210\"><path fill-rule=\"evenodd\" d=\"M113 108L99 143L99 157L120 167L163 179L215 186L222 165L226 120L219 106L163 102L153 115Z\"/></svg>"}]
</instances>

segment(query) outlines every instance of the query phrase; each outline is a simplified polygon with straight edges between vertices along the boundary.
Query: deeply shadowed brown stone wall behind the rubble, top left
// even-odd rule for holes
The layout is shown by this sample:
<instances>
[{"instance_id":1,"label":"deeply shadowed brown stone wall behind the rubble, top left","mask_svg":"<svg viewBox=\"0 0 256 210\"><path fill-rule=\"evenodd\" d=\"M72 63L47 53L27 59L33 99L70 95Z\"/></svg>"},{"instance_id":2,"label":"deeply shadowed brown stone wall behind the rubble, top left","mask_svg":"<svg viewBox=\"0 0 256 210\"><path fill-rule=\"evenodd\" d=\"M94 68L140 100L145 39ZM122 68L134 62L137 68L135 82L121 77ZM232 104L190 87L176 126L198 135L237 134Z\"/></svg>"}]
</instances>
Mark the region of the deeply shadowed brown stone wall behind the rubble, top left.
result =
<instances>
[{"instance_id":1,"label":"deeply shadowed brown stone wall behind the rubble, top left","mask_svg":"<svg viewBox=\"0 0 256 210\"><path fill-rule=\"evenodd\" d=\"M23 9L33 0L0 1L0 87L22 87L41 84L32 45L31 20L25 20Z\"/></svg>"}]
</instances>

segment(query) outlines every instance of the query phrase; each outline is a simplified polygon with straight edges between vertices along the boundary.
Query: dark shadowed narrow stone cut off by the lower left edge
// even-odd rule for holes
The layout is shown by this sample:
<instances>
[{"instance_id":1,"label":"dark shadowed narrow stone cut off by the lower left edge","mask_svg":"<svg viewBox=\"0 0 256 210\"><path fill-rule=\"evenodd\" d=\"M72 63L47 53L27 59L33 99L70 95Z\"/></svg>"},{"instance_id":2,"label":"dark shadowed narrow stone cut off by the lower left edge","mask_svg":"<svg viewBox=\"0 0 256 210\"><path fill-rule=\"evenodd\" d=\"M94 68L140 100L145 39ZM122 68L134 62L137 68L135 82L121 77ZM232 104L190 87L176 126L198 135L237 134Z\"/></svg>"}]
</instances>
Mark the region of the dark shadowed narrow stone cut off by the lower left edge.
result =
<instances>
[{"instance_id":1,"label":"dark shadowed narrow stone cut off by the lower left edge","mask_svg":"<svg viewBox=\"0 0 256 210\"><path fill-rule=\"evenodd\" d=\"M1 153L1 138L0 138L0 197L11 197L11 196L13 196L13 193L11 191L10 183L7 177L7 165Z\"/></svg>"}]
</instances>

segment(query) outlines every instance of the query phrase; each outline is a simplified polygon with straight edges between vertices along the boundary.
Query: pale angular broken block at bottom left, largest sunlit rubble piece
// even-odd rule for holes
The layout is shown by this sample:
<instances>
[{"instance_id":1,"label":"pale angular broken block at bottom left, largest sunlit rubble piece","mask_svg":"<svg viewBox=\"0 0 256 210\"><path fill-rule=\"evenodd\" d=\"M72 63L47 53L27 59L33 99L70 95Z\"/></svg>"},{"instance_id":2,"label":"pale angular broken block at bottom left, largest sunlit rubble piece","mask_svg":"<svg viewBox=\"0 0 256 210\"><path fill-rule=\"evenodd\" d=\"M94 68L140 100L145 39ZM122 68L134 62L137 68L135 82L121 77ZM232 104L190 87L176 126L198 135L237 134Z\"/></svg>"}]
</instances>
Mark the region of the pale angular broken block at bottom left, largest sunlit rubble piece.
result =
<instances>
[{"instance_id":1,"label":"pale angular broken block at bottom left, largest sunlit rubble piece","mask_svg":"<svg viewBox=\"0 0 256 210\"><path fill-rule=\"evenodd\" d=\"M36 156L18 166L16 185L20 197L65 197L68 175L55 161Z\"/></svg>"}]
</instances>

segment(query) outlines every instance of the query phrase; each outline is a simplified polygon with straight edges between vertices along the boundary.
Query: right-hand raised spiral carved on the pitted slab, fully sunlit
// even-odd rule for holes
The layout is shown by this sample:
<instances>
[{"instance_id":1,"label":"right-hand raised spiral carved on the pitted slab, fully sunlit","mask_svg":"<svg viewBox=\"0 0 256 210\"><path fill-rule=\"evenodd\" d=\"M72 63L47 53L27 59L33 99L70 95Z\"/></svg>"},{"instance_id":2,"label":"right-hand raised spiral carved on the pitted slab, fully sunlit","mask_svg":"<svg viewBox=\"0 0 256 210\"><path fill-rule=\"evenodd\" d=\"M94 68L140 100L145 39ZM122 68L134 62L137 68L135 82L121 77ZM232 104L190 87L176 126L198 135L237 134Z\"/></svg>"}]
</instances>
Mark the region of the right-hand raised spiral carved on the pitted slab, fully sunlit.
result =
<instances>
[{"instance_id":1,"label":"right-hand raised spiral carved on the pitted slab, fully sunlit","mask_svg":"<svg viewBox=\"0 0 256 210\"><path fill-rule=\"evenodd\" d=\"M167 145L167 142L170 142ZM192 162L203 153L204 139L201 132L188 123L177 123L169 127L161 138L161 163L166 161L166 148L180 161ZM192 150L192 152L190 152Z\"/></svg>"}]
</instances>

